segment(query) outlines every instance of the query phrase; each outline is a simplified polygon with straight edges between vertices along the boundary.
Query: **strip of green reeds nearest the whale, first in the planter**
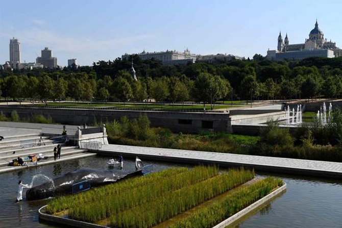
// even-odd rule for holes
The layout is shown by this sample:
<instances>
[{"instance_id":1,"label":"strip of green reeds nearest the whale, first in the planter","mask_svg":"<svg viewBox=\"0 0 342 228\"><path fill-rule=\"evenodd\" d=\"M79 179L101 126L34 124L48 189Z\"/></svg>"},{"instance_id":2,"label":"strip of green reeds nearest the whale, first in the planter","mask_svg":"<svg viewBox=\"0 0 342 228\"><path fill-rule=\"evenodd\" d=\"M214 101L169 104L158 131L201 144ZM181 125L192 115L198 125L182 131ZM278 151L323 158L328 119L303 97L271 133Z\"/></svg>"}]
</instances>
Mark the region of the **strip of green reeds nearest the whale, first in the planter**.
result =
<instances>
[{"instance_id":1,"label":"strip of green reeds nearest the whale, first in the planter","mask_svg":"<svg viewBox=\"0 0 342 228\"><path fill-rule=\"evenodd\" d=\"M161 179L169 178L188 171L188 168L170 168L157 173L151 173L147 176L134 177L123 180L120 181L120 183L115 183L115 185L107 185L101 188L94 188L77 195L57 197L48 203L46 207L46 213L54 214L60 211L65 211L69 208L76 207L75 202L77 202L77 205L84 205L99 198L103 198L108 194L113 194L115 192L125 192L127 190L135 189L141 186L151 185L152 183L154 183L154 181L159 181Z\"/></svg>"}]
</instances>

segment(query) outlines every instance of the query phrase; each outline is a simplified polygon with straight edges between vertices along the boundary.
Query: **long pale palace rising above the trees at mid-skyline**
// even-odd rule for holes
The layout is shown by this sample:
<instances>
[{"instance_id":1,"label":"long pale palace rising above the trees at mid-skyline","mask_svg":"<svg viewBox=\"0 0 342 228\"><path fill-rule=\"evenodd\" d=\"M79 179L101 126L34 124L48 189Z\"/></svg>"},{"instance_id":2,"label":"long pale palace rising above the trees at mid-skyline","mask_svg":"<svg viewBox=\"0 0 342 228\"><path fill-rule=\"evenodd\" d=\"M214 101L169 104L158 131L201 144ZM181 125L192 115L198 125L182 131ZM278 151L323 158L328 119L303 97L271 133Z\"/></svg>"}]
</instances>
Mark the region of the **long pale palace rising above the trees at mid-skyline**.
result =
<instances>
[{"instance_id":1,"label":"long pale palace rising above the trees at mid-skyline","mask_svg":"<svg viewBox=\"0 0 342 228\"><path fill-rule=\"evenodd\" d=\"M131 55L135 54L125 54L121 56L123 59L129 58ZM186 49L184 52L177 52L177 51L168 51L165 52L141 52L136 54L138 55L142 60L145 59L158 59L162 61L163 64L167 65L174 65L174 64L186 64L187 62L191 61L194 62L197 59L198 55L191 54L188 49ZM177 60L185 60L185 61L177 61Z\"/></svg>"}]
</instances>

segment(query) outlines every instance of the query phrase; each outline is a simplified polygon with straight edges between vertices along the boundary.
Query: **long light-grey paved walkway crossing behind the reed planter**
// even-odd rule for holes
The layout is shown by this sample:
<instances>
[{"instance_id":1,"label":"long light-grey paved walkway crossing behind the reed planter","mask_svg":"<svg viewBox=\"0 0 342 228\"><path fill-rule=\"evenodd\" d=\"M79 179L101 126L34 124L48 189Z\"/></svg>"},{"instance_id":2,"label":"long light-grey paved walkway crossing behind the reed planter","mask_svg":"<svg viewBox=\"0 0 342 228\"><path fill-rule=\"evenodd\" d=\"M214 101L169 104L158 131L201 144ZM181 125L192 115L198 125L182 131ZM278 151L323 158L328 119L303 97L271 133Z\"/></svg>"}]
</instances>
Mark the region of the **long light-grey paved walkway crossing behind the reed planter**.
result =
<instances>
[{"instance_id":1,"label":"long light-grey paved walkway crossing behind the reed planter","mask_svg":"<svg viewBox=\"0 0 342 228\"><path fill-rule=\"evenodd\" d=\"M123 145L104 145L99 154L118 154L181 163L216 163L220 166L245 166L256 170L342 178L342 163L304 159L266 157L192 150L176 150Z\"/></svg>"}]
</instances>

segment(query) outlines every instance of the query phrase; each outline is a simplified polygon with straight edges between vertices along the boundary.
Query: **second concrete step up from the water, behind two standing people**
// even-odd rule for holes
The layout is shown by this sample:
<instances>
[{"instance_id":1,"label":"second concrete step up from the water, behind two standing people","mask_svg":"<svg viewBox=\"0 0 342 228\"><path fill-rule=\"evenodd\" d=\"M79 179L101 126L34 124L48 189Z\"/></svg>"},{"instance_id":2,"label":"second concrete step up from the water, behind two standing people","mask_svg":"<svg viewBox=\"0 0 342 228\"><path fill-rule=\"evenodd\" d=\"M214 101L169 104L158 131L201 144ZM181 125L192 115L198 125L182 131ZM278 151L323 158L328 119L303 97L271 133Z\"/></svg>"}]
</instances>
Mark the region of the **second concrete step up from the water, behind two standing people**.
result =
<instances>
[{"instance_id":1,"label":"second concrete step up from the water, behind two standing people","mask_svg":"<svg viewBox=\"0 0 342 228\"><path fill-rule=\"evenodd\" d=\"M78 149L78 147L62 147L61 150L61 156L62 154L69 154L70 152L72 153L78 153L78 152L82 152L85 151L84 149ZM44 150L44 151L24 151L21 153L15 153L15 154L10 154L8 156L0 156L0 166L3 166L4 164L8 165L8 163L12 162L12 159L16 159L17 157L27 157L30 154L37 154L38 153L42 153L44 156L47 157L54 157L54 151L52 150Z\"/></svg>"}]
</instances>

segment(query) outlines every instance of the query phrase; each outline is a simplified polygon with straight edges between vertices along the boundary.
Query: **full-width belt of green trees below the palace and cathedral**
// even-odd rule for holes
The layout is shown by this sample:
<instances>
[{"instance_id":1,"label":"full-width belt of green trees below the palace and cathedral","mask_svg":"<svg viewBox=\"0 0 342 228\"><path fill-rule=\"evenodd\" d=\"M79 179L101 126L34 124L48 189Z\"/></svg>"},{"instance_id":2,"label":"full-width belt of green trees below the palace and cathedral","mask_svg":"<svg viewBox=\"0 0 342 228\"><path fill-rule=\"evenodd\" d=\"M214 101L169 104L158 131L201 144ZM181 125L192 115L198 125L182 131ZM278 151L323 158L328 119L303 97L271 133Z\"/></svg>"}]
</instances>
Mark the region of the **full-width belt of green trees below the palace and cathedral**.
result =
<instances>
[{"instance_id":1,"label":"full-width belt of green trees below the palace and cathedral","mask_svg":"<svg viewBox=\"0 0 342 228\"><path fill-rule=\"evenodd\" d=\"M215 102L226 99L313 99L342 96L342 58L252 60L162 65L155 59L94 62L92 66L0 71L2 97L16 100Z\"/></svg>"}]
</instances>

